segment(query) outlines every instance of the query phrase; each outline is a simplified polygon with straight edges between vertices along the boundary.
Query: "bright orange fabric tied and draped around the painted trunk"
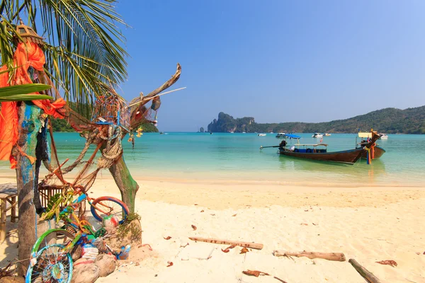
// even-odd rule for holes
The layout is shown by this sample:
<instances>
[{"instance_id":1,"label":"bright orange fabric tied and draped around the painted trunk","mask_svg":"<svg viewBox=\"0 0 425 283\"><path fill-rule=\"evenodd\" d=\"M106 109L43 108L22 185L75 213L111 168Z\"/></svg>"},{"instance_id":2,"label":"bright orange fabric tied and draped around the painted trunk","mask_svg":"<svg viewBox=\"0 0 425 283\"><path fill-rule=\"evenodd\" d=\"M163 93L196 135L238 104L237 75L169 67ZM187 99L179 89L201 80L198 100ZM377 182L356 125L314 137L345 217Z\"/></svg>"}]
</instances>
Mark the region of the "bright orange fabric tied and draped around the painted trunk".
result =
<instances>
[{"instance_id":1,"label":"bright orange fabric tied and draped around the painted trunk","mask_svg":"<svg viewBox=\"0 0 425 283\"><path fill-rule=\"evenodd\" d=\"M16 48L13 62L16 67L11 85L19 85L26 83L33 83L28 68L33 67L38 71L42 71L45 64L45 55L41 48L34 42L19 43ZM0 71L6 71L7 67L1 67ZM8 74L0 74L0 87L8 86ZM35 95L38 93L35 93ZM54 103L50 100L33 100L33 103L39 108L44 110L48 115L57 118L64 118L64 116L57 112L62 108L66 102L59 98ZM16 102L1 103L1 116L0 116L0 160L10 160L11 168L15 168L16 160L11 156L13 146L18 141L18 108ZM30 160L33 158L32 156ZM28 158L29 158L28 157ZM33 160L32 162L33 163Z\"/></svg>"}]
</instances>

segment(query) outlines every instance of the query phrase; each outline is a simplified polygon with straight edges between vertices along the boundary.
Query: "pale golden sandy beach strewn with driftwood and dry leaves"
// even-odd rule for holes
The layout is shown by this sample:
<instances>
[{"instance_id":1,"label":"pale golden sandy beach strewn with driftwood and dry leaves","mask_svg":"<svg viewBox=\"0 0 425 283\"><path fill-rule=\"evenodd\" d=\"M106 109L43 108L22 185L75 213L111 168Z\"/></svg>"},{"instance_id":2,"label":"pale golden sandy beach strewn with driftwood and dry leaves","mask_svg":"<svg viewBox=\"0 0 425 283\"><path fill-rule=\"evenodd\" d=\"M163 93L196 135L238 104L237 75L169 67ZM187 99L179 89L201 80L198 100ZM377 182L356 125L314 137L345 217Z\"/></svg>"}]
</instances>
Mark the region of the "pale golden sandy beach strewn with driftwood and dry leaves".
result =
<instances>
[{"instance_id":1,"label":"pale golden sandy beach strewn with driftwood and dry leaves","mask_svg":"<svg viewBox=\"0 0 425 283\"><path fill-rule=\"evenodd\" d=\"M2 182L13 179L2 178ZM365 282L354 258L382 282L425 282L425 187L303 187L137 180L143 243L97 282ZM100 177L92 196L119 197ZM192 228L196 226L196 230ZM10 226L10 224L9 224ZM0 262L16 258L13 226ZM165 240L167 236L171 238ZM240 254L189 236L262 243ZM188 243L188 245L186 245ZM345 262L275 257L273 250L344 253ZM209 259L207 259L209 258ZM395 260L397 267L377 261ZM173 265L167 267L169 263ZM244 270L271 276L251 277Z\"/></svg>"}]
</instances>

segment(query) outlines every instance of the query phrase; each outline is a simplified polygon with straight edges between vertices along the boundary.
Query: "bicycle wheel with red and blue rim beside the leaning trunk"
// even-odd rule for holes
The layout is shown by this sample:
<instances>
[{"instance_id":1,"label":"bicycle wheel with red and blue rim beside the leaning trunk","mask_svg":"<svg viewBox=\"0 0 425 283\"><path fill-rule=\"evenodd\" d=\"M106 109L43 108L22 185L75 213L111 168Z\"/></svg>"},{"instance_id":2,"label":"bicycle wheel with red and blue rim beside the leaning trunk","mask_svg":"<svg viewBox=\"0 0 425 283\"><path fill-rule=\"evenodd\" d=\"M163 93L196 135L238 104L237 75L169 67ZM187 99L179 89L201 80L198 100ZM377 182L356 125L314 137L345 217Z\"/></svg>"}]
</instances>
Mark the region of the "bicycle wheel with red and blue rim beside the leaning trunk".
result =
<instances>
[{"instance_id":1,"label":"bicycle wheel with red and blue rim beside the leaning trunk","mask_svg":"<svg viewBox=\"0 0 425 283\"><path fill-rule=\"evenodd\" d=\"M128 211L127 205L121 202L115 197L98 197L96 200L91 202L91 214L97 221L102 221L103 217L113 215L118 218L120 224L123 224L127 219Z\"/></svg>"}]
</instances>

